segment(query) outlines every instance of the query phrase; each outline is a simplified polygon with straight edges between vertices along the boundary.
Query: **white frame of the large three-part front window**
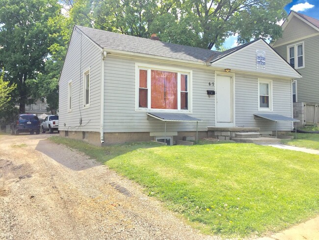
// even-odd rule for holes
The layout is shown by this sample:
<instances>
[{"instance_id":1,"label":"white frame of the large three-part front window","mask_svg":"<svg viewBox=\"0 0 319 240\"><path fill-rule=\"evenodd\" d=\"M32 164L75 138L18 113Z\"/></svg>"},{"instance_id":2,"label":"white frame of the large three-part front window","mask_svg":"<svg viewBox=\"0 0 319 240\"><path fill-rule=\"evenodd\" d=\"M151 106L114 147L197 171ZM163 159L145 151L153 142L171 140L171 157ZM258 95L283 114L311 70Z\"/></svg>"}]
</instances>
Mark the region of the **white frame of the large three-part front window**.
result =
<instances>
[{"instance_id":1,"label":"white frame of the large three-part front window","mask_svg":"<svg viewBox=\"0 0 319 240\"><path fill-rule=\"evenodd\" d=\"M139 70L147 70L147 108L139 107ZM151 70L159 71L168 71L177 73L177 109L155 109L151 108ZM187 75L187 93L188 93L188 109L181 109L181 74ZM150 65L150 64L135 64L135 111L136 112L148 112L148 111L157 111L157 112L184 112L192 113L192 70L182 69L182 68L173 68L166 66Z\"/></svg>"}]
</instances>

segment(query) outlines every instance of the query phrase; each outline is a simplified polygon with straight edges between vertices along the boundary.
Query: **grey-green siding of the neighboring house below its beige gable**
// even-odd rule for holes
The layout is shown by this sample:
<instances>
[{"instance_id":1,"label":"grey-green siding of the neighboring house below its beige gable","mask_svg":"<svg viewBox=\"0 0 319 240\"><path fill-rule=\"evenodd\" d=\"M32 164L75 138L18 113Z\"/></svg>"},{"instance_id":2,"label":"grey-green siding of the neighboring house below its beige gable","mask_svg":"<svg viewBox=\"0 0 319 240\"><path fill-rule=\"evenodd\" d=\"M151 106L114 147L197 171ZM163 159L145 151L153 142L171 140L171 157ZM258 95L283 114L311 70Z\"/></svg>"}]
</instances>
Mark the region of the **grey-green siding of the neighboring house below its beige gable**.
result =
<instances>
[{"instance_id":1,"label":"grey-green siding of the neighboring house below its beige gable","mask_svg":"<svg viewBox=\"0 0 319 240\"><path fill-rule=\"evenodd\" d=\"M319 102L319 35L306 38L304 42L305 67L297 69L302 78L297 79L297 101ZM287 46L299 43L292 42L275 50L287 60Z\"/></svg>"}]
</instances>

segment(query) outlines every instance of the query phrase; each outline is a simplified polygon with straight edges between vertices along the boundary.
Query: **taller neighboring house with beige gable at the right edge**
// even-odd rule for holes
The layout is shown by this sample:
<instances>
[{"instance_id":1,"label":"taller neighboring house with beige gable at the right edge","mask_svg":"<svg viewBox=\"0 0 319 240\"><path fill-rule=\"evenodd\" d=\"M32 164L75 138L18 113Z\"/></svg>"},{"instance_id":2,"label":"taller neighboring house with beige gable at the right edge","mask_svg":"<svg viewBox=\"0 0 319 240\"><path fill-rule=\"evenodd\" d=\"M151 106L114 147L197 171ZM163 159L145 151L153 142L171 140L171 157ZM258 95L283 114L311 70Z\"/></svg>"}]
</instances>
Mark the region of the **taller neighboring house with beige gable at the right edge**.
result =
<instances>
[{"instance_id":1,"label":"taller neighboring house with beige gable at the right edge","mask_svg":"<svg viewBox=\"0 0 319 240\"><path fill-rule=\"evenodd\" d=\"M291 11L282 37L270 44L302 78L293 81L293 102L319 103L319 20Z\"/></svg>"}]
</instances>

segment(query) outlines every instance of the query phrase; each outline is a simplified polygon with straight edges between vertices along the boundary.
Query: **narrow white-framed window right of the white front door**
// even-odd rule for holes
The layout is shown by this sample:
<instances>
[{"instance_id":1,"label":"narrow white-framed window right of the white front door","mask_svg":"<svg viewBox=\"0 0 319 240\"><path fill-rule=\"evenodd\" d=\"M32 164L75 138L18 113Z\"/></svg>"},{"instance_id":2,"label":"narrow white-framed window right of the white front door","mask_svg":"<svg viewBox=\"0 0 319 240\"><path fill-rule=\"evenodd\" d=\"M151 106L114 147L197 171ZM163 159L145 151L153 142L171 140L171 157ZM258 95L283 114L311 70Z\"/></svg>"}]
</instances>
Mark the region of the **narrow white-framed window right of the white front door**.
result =
<instances>
[{"instance_id":1,"label":"narrow white-framed window right of the white front door","mask_svg":"<svg viewBox=\"0 0 319 240\"><path fill-rule=\"evenodd\" d=\"M258 80L258 104L259 110L272 110L272 81L271 80Z\"/></svg>"}]
</instances>

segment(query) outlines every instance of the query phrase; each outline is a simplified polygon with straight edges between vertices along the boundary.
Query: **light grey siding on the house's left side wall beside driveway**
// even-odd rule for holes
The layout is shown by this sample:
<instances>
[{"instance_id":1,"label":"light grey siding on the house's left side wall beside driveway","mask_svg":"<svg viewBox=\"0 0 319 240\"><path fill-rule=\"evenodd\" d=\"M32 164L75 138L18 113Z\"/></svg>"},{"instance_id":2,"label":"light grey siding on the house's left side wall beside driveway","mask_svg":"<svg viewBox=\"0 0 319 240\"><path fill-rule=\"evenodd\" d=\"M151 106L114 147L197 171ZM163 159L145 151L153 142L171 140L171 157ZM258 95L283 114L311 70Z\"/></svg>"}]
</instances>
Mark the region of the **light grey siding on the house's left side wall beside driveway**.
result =
<instances>
[{"instance_id":1,"label":"light grey siding on the house's left side wall beside driveway","mask_svg":"<svg viewBox=\"0 0 319 240\"><path fill-rule=\"evenodd\" d=\"M102 49L74 31L59 81L59 130L99 131L101 119ZM90 69L90 106L83 101L83 73ZM68 83L72 80L72 112L68 112ZM82 124L80 125L80 118Z\"/></svg>"}]
</instances>

